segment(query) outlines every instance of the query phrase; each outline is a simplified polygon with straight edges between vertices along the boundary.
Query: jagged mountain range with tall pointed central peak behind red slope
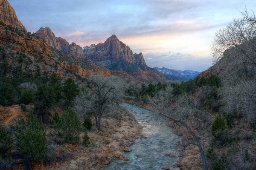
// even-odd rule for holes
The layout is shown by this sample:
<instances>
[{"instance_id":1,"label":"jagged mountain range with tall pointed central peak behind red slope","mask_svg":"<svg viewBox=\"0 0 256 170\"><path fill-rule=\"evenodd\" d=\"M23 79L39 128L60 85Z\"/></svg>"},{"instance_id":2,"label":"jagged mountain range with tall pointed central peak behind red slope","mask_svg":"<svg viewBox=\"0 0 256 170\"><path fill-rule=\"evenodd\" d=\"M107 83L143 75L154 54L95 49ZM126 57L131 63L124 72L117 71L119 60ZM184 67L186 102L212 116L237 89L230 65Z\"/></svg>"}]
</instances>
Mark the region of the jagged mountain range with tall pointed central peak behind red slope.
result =
<instances>
[{"instance_id":1,"label":"jagged mountain range with tall pointed central peak behind red slope","mask_svg":"<svg viewBox=\"0 0 256 170\"><path fill-rule=\"evenodd\" d=\"M148 67L142 53L133 54L129 46L122 43L116 35L109 37L104 43L84 46L69 44L61 37L55 37L49 28L41 28L36 35L46 41L53 49L75 55L74 60L90 59L111 70L111 74L137 81L158 81L165 77L155 69ZM70 59L70 61L72 61Z\"/></svg>"}]
</instances>

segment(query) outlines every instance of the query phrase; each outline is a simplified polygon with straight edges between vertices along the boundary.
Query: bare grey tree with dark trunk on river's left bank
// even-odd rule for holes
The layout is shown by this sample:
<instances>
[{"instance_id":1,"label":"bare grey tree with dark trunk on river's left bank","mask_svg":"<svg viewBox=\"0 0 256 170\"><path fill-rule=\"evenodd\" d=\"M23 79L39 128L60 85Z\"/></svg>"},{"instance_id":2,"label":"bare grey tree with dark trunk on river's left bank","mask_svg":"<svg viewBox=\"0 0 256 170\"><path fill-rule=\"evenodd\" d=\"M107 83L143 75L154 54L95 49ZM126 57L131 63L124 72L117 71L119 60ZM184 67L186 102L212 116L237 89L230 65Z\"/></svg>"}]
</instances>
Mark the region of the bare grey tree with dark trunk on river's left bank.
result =
<instances>
[{"instance_id":1,"label":"bare grey tree with dark trunk on river's left bank","mask_svg":"<svg viewBox=\"0 0 256 170\"><path fill-rule=\"evenodd\" d=\"M100 130L102 115L118 106L123 97L122 80L115 76L90 76L88 86L75 99L75 111L83 118L88 113L93 113L96 130Z\"/></svg>"}]
</instances>

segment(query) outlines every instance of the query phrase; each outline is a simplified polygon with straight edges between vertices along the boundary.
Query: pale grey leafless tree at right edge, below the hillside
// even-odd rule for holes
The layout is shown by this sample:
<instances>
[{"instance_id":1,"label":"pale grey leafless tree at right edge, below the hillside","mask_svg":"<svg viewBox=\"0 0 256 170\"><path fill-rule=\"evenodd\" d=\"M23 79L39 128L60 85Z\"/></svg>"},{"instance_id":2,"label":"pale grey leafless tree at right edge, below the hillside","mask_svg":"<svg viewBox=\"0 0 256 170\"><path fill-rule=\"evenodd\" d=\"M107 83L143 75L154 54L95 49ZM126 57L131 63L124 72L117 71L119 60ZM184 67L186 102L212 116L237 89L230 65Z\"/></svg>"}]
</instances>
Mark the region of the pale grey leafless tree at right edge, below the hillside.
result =
<instances>
[{"instance_id":1,"label":"pale grey leafless tree at right edge, below the hillside","mask_svg":"<svg viewBox=\"0 0 256 170\"><path fill-rule=\"evenodd\" d=\"M230 75L224 78L219 90L225 103L223 111L230 116L242 117L256 122L256 80L244 75Z\"/></svg>"}]
</instances>

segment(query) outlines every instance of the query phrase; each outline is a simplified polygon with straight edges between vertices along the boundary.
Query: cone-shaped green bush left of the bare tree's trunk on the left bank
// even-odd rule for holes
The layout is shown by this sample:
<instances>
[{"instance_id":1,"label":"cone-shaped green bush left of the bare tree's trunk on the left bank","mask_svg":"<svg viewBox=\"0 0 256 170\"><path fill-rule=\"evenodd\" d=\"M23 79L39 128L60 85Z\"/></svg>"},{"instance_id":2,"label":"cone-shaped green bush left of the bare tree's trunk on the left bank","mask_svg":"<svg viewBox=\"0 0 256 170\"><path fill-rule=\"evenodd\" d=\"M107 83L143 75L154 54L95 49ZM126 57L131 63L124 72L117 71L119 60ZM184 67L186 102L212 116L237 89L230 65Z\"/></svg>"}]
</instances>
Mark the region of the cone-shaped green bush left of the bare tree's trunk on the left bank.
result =
<instances>
[{"instance_id":1,"label":"cone-shaped green bush left of the bare tree's trunk on the left bank","mask_svg":"<svg viewBox=\"0 0 256 170\"><path fill-rule=\"evenodd\" d=\"M59 120L55 122L53 129L58 139L67 143L76 143L79 140L81 123L73 109L68 107Z\"/></svg>"}]
</instances>

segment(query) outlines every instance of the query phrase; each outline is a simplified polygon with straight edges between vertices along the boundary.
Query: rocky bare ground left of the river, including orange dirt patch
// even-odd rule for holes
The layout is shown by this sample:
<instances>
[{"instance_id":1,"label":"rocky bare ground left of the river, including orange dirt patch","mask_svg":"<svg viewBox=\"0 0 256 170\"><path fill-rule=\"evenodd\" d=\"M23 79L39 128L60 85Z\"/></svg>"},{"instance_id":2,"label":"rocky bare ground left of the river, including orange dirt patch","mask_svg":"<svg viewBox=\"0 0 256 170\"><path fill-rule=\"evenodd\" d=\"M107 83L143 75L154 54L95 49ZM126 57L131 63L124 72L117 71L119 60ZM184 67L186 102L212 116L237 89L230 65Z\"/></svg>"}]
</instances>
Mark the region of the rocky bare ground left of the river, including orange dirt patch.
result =
<instances>
[{"instance_id":1,"label":"rocky bare ground left of the river, including orange dirt patch","mask_svg":"<svg viewBox=\"0 0 256 170\"><path fill-rule=\"evenodd\" d=\"M14 126L20 117L24 118L27 114L19 105L0 108L0 113L0 123L6 127ZM143 138L142 127L134 115L122 107L115 110L115 113L102 117L102 131L96 131L93 126L87 132L90 137L89 147L82 145L84 133L80 134L80 141L76 144L58 144L55 142L51 128L46 127L46 129L49 159L46 164L32 163L34 170L100 170L119 158L136 139ZM127 160L127 158L123 159ZM23 169L22 161L17 163L14 169Z\"/></svg>"}]
</instances>

